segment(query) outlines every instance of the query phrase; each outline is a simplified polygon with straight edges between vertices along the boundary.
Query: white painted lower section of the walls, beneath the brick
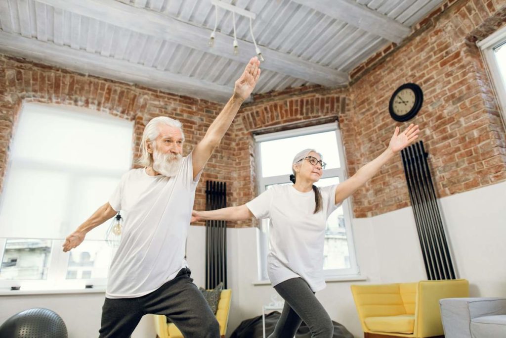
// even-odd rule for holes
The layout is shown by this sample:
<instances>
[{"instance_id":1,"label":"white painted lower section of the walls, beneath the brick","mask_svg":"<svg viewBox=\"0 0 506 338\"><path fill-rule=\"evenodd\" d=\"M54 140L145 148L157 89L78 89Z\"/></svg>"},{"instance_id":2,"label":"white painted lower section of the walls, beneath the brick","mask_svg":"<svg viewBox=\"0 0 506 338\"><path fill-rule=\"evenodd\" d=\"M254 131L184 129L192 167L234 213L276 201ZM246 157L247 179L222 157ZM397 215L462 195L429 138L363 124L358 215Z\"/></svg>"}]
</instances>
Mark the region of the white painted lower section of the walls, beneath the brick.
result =
<instances>
[{"instance_id":1,"label":"white painted lower section of the walls, beneath the brick","mask_svg":"<svg viewBox=\"0 0 506 338\"><path fill-rule=\"evenodd\" d=\"M506 296L506 182L443 198L441 212L461 278L471 283L472 296ZM253 285L257 274L256 229L228 229L229 288L232 311L228 334L275 294L270 285ZM350 292L354 283L409 282L425 279L425 269L411 208L353 220L360 272L367 281L331 282L317 293L330 317L362 336ZM204 284L203 227L190 227L188 262L198 286ZM0 296L0 323L32 307L56 311L67 324L69 337L96 337L103 293ZM133 338L155 336L152 319L145 316Z\"/></svg>"}]
</instances>

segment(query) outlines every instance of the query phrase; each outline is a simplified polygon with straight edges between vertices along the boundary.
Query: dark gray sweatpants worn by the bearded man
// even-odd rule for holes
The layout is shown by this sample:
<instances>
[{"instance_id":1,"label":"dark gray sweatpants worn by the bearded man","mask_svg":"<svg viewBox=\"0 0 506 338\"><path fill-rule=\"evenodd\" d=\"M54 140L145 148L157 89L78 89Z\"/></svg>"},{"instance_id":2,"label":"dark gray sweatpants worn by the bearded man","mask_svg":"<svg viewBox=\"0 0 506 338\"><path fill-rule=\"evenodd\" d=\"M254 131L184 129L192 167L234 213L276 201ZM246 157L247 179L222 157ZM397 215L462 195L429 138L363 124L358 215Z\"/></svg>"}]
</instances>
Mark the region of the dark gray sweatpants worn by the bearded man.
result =
<instances>
[{"instance_id":1,"label":"dark gray sweatpants worn by the bearded man","mask_svg":"<svg viewBox=\"0 0 506 338\"><path fill-rule=\"evenodd\" d=\"M190 274L183 268L176 278L142 297L105 298L100 338L129 337L146 314L167 316L185 337L219 338L220 325Z\"/></svg>"}]
</instances>

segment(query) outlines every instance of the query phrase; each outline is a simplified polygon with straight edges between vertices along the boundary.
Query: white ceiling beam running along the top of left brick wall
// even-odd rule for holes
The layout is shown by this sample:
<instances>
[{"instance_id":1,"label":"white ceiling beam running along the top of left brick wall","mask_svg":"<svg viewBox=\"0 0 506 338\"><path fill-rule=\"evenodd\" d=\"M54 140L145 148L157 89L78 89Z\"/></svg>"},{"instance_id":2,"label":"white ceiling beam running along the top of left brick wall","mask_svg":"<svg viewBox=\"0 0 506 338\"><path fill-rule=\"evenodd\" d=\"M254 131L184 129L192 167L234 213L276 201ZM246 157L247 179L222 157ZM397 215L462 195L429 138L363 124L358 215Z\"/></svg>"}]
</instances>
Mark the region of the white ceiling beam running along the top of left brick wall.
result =
<instances>
[{"instance_id":1,"label":"white ceiling beam running along the top of left brick wall","mask_svg":"<svg viewBox=\"0 0 506 338\"><path fill-rule=\"evenodd\" d=\"M0 31L0 52L174 94L226 102L233 88ZM239 76L240 74L237 74Z\"/></svg>"}]
</instances>

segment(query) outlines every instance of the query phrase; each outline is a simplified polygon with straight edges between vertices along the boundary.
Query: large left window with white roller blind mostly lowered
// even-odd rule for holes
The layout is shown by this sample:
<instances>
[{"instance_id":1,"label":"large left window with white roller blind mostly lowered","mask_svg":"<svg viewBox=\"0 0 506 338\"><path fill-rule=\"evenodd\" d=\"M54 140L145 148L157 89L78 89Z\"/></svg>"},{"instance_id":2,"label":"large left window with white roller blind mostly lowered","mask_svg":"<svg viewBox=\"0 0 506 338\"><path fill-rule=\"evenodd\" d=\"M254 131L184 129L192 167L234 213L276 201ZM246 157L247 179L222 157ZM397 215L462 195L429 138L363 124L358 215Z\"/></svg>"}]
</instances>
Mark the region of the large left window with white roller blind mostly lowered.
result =
<instances>
[{"instance_id":1,"label":"large left window with white roller blind mostly lowered","mask_svg":"<svg viewBox=\"0 0 506 338\"><path fill-rule=\"evenodd\" d=\"M132 163L133 123L89 109L24 104L0 199L0 288L105 286L109 221L70 252L65 237L107 202Z\"/></svg>"}]
</instances>

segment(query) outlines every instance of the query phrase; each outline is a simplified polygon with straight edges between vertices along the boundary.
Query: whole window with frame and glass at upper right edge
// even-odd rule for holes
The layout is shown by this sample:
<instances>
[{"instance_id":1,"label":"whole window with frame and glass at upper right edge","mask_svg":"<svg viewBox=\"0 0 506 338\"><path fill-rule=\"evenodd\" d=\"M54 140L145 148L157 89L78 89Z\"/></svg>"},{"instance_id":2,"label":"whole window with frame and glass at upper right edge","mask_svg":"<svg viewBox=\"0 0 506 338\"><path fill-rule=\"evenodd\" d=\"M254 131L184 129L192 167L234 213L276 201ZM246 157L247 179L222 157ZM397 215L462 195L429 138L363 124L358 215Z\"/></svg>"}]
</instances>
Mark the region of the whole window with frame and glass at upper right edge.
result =
<instances>
[{"instance_id":1,"label":"whole window with frame and glass at upper right edge","mask_svg":"<svg viewBox=\"0 0 506 338\"><path fill-rule=\"evenodd\" d=\"M480 41L478 46L488 64L502 118L506 123L506 27Z\"/></svg>"}]
</instances>

